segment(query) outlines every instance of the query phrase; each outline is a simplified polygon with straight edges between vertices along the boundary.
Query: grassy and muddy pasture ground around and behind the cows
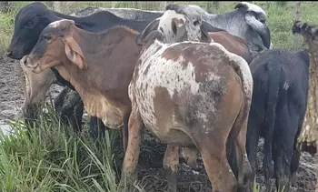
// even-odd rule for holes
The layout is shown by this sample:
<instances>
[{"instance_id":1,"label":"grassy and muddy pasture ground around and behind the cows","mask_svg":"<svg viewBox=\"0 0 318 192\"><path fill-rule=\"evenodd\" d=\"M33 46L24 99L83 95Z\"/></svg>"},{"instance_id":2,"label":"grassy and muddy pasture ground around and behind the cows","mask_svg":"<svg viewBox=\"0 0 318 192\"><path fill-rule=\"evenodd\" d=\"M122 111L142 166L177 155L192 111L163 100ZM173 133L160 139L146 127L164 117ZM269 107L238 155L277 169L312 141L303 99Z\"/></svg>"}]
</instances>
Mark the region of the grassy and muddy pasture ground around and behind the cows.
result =
<instances>
[{"instance_id":1,"label":"grassy and muddy pasture ground around and behind the cows","mask_svg":"<svg viewBox=\"0 0 318 192\"><path fill-rule=\"evenodd\" d=\"M5 56L14 31L13 19L17 11L31 2L10 2L7 13L0 13L0 126L12 123L14 136L0 136L0 190L2 191L116 191L115 181L120 174L123 154L117 131L106 131L104 140L94 141L88 136L88 126L81 136L62 126L53 116L51 98L61 92L61 86L52 86L47 96L46 113L41 116L41 125L32 131L29 140L20 123L23 89L18 62ZM46 2L44 2L46 3ZM167 2L169 4L170 2ZM172 2L171 2L172 3ZM180 2L200 5L210 13L232 11L238 2ZM294 3L253 2L263 7L268 15L274 48L293 50L291 26L294 18ZM49 5L50 6L50 5ZM61 10L72 14L87 6L133 7L149 10L161 9L160 3L126 2L67 2ZM318 21L318 3L302 2L301 21ZM300 38L300 48L303 41ZM21 69L20 69L21 70ZM260 142L259 147L262 147ZM138 170L140 186L144 191L165 191L166 178L162 166L165 145L150 135L145 135ZM258 150L258 157L262 151ZM293 191L314 191L315 165L310 155L303 153L301 164L294 178ZM262 161L258 162L257 183L263 186ZM179 191L210 191L202 158L196 167L179 166ZM139 189L142 191L143 189ZM136 189L136 191L138 191ZM255 189L254 191L258 191Z\"/></svg>"}]
</instances>

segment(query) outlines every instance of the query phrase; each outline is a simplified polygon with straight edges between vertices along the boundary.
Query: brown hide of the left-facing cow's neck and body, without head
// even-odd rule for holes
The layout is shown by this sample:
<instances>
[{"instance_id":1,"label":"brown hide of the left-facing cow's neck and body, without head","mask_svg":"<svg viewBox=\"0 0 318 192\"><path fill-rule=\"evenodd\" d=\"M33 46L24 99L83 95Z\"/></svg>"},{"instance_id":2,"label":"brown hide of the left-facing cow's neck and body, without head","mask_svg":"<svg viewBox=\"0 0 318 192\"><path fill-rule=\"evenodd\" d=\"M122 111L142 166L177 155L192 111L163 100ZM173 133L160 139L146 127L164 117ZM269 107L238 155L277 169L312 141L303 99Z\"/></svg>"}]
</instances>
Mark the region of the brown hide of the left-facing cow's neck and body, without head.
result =
<instances>
[{"instance_id":1,"label":"brown hide of the left-facing cow's neck and body, without head","mask_svg":"<svg viewBox=\"0 0 318 192\"><path fill-rule=\"evenodd\" d=\"M81 70L70 62L57 67L58 71L65 67L65 76L70 76L70 82L83 98L87 112L100 117L111 128L119 126L124 110L131 108L128 85L141 49L134 43L136 35L124 27L115 27L100 35L76 28L73 37L82 48L87 69ZM61 75L64 77L63 73ZM117 112L104 116L109 109ZM106 122L112 116L121 119Z\"/></svg>"}]
</instances>

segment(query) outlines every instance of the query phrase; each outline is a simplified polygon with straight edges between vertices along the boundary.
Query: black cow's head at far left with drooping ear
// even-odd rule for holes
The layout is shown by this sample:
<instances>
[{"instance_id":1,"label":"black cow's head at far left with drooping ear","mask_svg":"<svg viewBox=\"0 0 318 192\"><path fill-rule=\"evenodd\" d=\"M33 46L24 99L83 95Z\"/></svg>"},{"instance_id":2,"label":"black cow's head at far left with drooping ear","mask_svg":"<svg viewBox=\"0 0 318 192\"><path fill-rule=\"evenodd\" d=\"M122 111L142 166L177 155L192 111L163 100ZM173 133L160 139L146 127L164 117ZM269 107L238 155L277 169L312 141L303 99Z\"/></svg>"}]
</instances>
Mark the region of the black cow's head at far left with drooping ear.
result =
<instances>
[{"instance_id":1,"label":"black cow's head at far left with drooping ear","mask_svg":"<svg viewBox=\"0 0 318 192\"><path fill-rule=\"evenodd\" d=\"M53 20L50 10L42 3L23 7L15 16L15 32L7 49L7 56L21 59L29 54L42 30Z\"/></svg>"}]
</instances>

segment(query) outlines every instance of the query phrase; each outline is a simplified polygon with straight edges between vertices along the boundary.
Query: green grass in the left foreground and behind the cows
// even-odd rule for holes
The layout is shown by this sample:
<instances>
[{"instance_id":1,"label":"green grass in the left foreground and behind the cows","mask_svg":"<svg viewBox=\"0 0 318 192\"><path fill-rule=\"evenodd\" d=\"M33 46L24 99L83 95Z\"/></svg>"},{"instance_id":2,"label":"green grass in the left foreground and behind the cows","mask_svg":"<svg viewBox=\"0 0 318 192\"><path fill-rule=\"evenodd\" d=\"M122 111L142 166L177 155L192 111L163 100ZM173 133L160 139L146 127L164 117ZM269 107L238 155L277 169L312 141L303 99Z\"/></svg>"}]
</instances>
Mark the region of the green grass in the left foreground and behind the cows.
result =
<instances>
[{"instance_id":1,"label":"green grass in the left foreground and behind the cows","mask_svg":"<svg viewBox=\"0 0 318 192\"><path fill-rule=\"evenodd\" d=\"M10 11L0 13L0 52L4 53L14 32L14 19L21 7L31 2L9 2ZM44 2L46 3L46 2ZM179 2L200 5L210 13L220 14L234 9L237 2ZM268 14L273 47L293 50L291 26L294 3L253 2ZM67 3L70 14L87 6L135 7L158 10L159 3L143 2L77 2ZM49 5L50 6L50 5ZM318 20L316 2L302 2L301 20ZM301 38L302 39L302 38ZM0 135L0 190L24 191L116 191L123 153L118 147L118 132L107 131L104 140L93 140L87 134L76 136L55 116L45 115L40 124L25 132L21 122L13 123L13 134ZM254 191L260 189L254 186Z\"/></svg>"}]
</instances>

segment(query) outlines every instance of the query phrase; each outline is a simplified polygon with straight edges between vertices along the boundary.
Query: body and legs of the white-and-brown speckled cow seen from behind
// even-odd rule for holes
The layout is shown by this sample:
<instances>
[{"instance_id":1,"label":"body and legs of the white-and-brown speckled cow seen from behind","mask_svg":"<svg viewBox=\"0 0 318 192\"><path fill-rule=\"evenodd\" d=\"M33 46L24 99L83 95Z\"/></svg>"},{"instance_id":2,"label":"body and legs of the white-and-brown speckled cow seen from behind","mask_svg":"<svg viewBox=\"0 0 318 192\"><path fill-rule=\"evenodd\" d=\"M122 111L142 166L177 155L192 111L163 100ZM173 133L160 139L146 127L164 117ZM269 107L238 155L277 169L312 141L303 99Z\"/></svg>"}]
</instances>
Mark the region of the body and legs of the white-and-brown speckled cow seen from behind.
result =
<instances>
[{"instance_id":1,"label":"body and legs of the white-and-brown speckled cow seen from behind","mask_svg":"<svg viewBox=\"0 0 318 192\"><path fill-rule=\"evenodd\" d=\"M164 35L156 30L144 38L134 69L129 86L133 108L123 174L134 181L145 127L167 143L174 154L177 147L197 147L213 191L236 191L237 181L226 159L225 143L232 129L246 131L253 92L249 66L241 56L217 43L166 45L161 43L163 39ZM248 175L251 167L243 153L244 140L240 144L240 171Z\"/></svg>"}]
</instances>

